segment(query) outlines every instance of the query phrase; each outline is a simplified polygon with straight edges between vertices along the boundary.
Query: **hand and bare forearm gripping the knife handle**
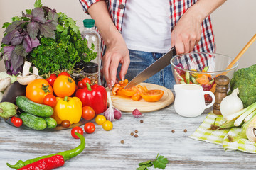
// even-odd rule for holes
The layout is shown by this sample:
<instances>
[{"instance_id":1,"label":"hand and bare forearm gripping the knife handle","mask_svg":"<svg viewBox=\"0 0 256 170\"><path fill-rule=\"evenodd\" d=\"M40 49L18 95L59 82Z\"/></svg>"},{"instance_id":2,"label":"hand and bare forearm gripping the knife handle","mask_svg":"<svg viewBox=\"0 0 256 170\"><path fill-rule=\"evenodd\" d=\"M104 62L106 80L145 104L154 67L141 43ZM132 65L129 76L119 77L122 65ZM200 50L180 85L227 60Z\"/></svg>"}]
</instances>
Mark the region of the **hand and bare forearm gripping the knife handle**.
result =
<instances>
[{"instance_id":1,"label":"hand and bare forearm gripping the knife handle","mask_svg":"<svg viewBox=\"0 0 256 170\"><path fill-rule=\"evenodd\" d=\"M203 20L225 1L200 0L188 8L171 33L171 47L175 45L177 54L188 53L193 50L201 39Z\"/></svg>"}]
</instances>

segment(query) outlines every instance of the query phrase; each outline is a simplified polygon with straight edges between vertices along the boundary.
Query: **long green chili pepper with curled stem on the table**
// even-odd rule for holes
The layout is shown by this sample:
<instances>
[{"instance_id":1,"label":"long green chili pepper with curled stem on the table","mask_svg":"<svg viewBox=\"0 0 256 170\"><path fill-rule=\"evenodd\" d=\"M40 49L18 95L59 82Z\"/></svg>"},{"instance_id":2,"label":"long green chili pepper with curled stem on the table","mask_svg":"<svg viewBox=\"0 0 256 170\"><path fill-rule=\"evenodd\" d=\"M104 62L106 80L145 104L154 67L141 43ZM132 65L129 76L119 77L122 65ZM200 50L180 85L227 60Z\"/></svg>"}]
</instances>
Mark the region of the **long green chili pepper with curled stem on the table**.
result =
<instances>
[{"instance_id":1,"label":"long green chili pepper with curled stem on the table","mask_svg":"<svg viewBox=\"0 0 256 170\"><path fill-rule=\"evenodd\" d=\"M80 154L83 149L85 149L85 137L83 137L80 133L75 132L75 135L78 135L78 137L80 138L80 145L78 147L75 147L74 149L68 150L68 151L64 151L64 152L59 152L57 154L50 154L50 155L46 155L46 156L42 156L42 157L37 157L34 159L29 159L26 160L25 162L19 160L15 165L11 165L9 163L6 163L7 166L9 166L10 168L13 169L20 169L23 166L26 166L27 164L31 164L33 162L37 162L38 160L41 160L43 158L48 158L48 157L52 157L54 155L61 155L64 158L64 161L71 159L75 156L77 156L78 154Z\"/></svg>"}]
</instances>

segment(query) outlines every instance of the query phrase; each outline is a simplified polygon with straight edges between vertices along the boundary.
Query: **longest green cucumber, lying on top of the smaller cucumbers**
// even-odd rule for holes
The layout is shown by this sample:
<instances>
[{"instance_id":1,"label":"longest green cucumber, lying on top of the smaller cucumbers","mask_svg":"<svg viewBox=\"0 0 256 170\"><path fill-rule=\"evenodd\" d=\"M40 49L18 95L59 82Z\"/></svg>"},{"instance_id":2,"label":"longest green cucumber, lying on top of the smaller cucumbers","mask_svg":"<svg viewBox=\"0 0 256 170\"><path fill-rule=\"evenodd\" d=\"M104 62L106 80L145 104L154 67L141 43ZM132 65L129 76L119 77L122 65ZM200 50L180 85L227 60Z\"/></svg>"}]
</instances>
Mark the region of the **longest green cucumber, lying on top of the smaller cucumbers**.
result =
<instances>
[{"instance_id":1,"label":"longest green cucumber, lying on top of the smaller cucumbers","mask_svg":"<svg viewBox=\"0 0 256 170\"><path fill-rule=\"evenodd\" d=\"M16 105L26 113L40 117L50 117L53 115L53 108L47 105L39 104L29 100L26 96L16 97Z\"/></svg>"}]
</instances>

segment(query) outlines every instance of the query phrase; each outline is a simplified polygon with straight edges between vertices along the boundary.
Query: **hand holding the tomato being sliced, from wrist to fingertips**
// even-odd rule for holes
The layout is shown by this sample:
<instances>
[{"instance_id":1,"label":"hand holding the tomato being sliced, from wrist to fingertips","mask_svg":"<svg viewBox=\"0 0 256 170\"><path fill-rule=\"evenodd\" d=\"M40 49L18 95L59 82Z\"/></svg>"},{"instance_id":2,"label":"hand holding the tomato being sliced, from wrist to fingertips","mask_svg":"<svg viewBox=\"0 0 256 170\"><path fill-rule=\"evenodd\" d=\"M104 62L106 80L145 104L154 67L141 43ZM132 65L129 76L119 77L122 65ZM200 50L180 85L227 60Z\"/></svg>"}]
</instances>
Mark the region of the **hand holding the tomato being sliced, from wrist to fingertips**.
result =
<instances>
[{"instance_id":1,"label":"hand holding the tomato being sliced, from wrist to fingertips","mask_svg":"<svg viewBox=\"0 0 256 170\"><path fill-rule=\"evenodd\" d=\"M106 52L102 60L103 74L105 76L107 86L111 89L117 78L117 68L119 63L122 64L119 73L121 80L124 80L124 76L127 73L130 63L129 50L124 42L124 38L122 38L122 35L119 32L115 34L112 41L109 43L106 42Z\"/></svg>"}]
</instances>

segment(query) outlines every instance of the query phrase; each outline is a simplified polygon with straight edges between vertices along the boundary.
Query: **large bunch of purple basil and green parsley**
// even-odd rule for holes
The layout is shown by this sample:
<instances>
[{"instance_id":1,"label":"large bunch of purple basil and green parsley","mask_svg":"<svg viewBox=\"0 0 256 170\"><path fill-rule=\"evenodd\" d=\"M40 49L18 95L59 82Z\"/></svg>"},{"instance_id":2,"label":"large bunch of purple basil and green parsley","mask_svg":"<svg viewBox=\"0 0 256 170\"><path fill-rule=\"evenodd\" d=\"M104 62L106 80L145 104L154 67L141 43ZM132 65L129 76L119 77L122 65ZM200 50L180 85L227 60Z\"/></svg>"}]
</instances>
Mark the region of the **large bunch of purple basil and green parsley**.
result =
<instances>
[{"instance_id":1,"label":"large bunch of purple basil and green parsley","mask_svg":"<svg viewBox=\"0 0 256 170\"><path fill-rule=\"evenodd\" d=\"M39 74L72 69L77 62L90 62L97 56L82 39L79 27L65 13L42 6L36 0L35 8L21 17L4 23L6 33L2 40L0 59L5 61L9 74L18 74L25 60L32 62Z\"/></svg>"}]
</instances>

